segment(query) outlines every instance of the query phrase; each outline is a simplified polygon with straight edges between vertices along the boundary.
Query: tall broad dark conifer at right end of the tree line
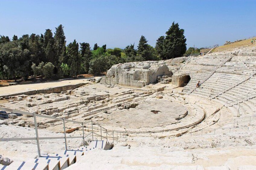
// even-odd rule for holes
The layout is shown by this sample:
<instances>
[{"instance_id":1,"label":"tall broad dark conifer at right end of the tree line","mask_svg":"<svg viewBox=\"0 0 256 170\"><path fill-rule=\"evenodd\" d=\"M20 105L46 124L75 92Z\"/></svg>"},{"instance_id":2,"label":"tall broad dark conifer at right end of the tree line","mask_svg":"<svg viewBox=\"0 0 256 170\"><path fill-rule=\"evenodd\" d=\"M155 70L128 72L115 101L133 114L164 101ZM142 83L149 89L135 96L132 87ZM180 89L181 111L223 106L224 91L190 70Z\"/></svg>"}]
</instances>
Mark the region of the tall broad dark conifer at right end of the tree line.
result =
<instances>
[{"instance_id":1,"label":"tall broad dark conifer at right end of the tree line","mask_svg":"<svg viewBox=\"0 0 256 170\"><path fill-rule=\"evenodd\" d=\"M186 40L184 29L180 29L179 24L173 22L166 32L164 40L164 58L170 59L183 56L187 49Z\"/></svg>"}]
</instances>

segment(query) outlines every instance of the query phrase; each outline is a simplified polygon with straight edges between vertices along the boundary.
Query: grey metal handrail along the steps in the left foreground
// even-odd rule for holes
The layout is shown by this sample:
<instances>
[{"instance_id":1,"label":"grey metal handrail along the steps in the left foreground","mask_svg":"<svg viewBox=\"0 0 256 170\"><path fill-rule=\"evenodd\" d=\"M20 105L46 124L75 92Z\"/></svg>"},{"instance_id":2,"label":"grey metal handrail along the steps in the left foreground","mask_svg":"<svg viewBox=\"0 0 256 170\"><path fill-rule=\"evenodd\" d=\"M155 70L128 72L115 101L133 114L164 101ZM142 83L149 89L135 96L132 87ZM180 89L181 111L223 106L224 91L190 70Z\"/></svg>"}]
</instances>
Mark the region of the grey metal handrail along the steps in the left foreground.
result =
<instances>
[{"instance_id":1,"label":"grey metal handrail along the steps in the left foreground","mask_svg":"<svg viewBox=\"0 0 256 170\"><path fill-rule=\"evenodd\" d=\"M37 151L38 151L38 156L41 156L40 153L40 140L48 140L48 139L64 139L65 140L65 149L67 150L67 139L70 138L82 138L83 139L83 145L85 146L85 138L89 135L92 136L92 140L94 140L94 135L100 136L101 140L102 138L106 138L106 140L108 140L108 134L111 135L111 137L113 138L113 144L114 144L114 139L115 139L115 135L114 133L117 133L116 139L118 142L118 138L122 138L124 136L127 136L127 131L112 131L112 130L108 130L106 128L103 128L101 125L99 125L98 123L90 120L87 122L79 122L79 121L74 121L74 120L69 120L69 119L65 119L65 118L56 118L56 117L52 117L52 116L46 116L46 115L39 115L36 113L29 113L29 112L24 112L24 111L20 111L20 110L13 110L13 109L8 109L8 108L4 108L4 107L0 107L0 110L2 111L7 111L7 112L13 112L13 113L19 113L19 114L24 114L24 115L30 115L34 117L34 125L35 125L35 132L36 132L36 137L35 138L0 138L0 142L1 141L25 141L25 140L36 140L37 141ZM1 113L3 114L3 113ZM63 122L63 130L64 130L64 136L63 137L39 137L38 135L38 129L37 129L37 117L42 117L42 118L47 118L47 119L55 119L55 120L59 120ZM83 135L82 136L66 136L66 126L65 126L65 122L72 122L72 123L77 123L79 125L81 125L82 127L82 131L83 131ZM88 133L87 135L85 135L85 130L84 127L86 128L85 125L90 124L90 128L91 128L91 132ZM93 125L97 125L99 128L95 128ZM95 132L95 130L100 131L101 134L97 134ZM104 130L104 131L103 131ZM102 135L103 133L106 133L106 137ZM110 134L111 132L111 134ZM120 134L120 137L118 137L118 134ZM110 137L110 136L109 136Z\"/></svg>"}]
</instances>

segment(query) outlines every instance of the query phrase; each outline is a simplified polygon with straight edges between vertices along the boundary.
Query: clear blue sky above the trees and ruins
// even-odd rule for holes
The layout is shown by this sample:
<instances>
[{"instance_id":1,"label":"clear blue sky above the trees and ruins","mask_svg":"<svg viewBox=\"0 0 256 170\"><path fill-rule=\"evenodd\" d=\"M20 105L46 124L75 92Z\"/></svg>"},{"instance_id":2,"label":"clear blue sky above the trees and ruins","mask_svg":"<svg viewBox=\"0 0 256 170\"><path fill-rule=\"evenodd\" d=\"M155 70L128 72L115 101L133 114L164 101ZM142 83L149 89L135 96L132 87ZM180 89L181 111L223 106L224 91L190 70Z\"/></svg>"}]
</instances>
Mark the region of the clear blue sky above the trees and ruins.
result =
<instances>
[{"instance_id":1,"label":"clear blue sky above the trees and ruins","mask_svg":"<svg viewBox=\"0 0 256 170\"><path fill-rule=\"evenodd\" d=\"M55 32L64 26L67 43L107 48L155 46L173 21L185 30L187 47L222 45L256 35L255 0L0 0L0 35Z\"/></svg>"}]
</instances>

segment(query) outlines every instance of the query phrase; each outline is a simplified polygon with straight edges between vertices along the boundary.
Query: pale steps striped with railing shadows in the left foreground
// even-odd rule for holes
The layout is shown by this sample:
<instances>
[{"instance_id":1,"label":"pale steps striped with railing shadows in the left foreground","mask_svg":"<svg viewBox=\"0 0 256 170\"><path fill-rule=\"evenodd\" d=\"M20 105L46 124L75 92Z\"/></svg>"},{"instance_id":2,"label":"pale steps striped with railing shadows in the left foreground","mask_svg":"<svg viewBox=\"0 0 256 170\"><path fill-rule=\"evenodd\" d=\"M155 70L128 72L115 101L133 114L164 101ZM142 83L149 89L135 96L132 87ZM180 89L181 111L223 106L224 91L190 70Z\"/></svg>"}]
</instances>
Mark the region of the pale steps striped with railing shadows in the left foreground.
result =
<instances>
[{"instance_id":1,"label":"pale steps striped with railing shadows in the left foreground","mask_svg":"<svg viewBox=\"0 0 256 170\"><path fill-rule=\"evenodd\" d=\"M75 164L90 150L110 150L114 147L112 142L92 141L89 146L77 149L63 150L61 153L41 155L36 159L14 161L10 165L1 165L0 170L61 170Z\"/></svg>"}]
</instances>

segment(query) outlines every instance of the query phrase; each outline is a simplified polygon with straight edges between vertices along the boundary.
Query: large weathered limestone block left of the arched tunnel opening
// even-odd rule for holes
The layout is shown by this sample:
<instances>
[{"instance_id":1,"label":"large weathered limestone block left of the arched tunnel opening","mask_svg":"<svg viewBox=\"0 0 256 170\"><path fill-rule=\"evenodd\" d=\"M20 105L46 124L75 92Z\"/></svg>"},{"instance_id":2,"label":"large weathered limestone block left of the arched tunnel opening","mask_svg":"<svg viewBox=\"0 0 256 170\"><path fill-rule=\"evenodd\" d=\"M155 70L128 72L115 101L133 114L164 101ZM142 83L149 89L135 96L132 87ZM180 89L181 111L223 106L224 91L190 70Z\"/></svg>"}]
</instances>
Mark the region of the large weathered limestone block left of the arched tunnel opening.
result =
<instances>
[{"instance_id":1,"label":"large weathered limestone block left of the arched tunnel opening","mask_svg":"<svg viewBox=\"0 0 256 170\"><path fill-rule=\"evenodd\" d=\"M172 75L164 61L144 61L113 65L101 83L143 87L154 83L157 76Z\"/></svg>"}]
</instances>

